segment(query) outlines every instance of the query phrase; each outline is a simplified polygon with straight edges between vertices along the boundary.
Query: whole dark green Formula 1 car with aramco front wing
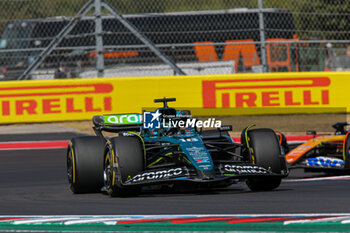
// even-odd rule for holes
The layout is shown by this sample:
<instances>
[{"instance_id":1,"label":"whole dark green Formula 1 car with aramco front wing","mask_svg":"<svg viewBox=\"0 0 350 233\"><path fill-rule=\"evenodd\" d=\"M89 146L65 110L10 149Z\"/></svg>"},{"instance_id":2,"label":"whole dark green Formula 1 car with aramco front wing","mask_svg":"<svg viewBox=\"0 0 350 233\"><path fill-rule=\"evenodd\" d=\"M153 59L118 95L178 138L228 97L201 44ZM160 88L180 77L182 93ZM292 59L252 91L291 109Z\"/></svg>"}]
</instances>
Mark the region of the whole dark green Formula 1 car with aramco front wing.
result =
<instances>
[{"instance_id":1,"label":"whole dark green Formula 1 car with aramco front wing","mask_svg":"<svg viewBox=\"0 0 350 233\"><path fill-rule=\"evenodd\" d=\"M175 99L156 99L163 107L153 112L93 117L97 136L73 138L68 146L71 190L131 196L145 189L226 187L239 180L251 190L272 190L287 176L273 130L247 127L235 143L228 134L232 126L192 118L187 110L168 107L170 101Z\"/></svg>"}]
</instances>

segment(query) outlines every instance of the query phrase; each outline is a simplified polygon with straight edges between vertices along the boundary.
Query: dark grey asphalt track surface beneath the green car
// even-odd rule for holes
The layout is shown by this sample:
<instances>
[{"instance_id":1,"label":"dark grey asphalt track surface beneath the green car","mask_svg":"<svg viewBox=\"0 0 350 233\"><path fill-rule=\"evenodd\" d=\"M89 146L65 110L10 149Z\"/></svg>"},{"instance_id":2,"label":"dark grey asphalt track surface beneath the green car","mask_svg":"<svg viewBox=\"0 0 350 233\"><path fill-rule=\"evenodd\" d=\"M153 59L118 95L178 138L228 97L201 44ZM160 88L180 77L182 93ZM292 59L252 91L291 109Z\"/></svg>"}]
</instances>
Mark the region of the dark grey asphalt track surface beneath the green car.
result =
<instances>
[{"instance_id":1,"label":"dark grey asphalt track surface beneath the green car","mask_svg":"<svg viewBox=\"0 0 350 233\"><path fill-rule=\"evenodd\" d=\"M74 134L0 135L0 141L64 140ZM145 193L111 198L74 195L66 177L66 151L0 151L0 215L148 215L349 213L350 180L283 181L275 191L251 192L244 183L197 193ZM289 179L322 177L302 170Z\"/></svg>"}]
</instances>

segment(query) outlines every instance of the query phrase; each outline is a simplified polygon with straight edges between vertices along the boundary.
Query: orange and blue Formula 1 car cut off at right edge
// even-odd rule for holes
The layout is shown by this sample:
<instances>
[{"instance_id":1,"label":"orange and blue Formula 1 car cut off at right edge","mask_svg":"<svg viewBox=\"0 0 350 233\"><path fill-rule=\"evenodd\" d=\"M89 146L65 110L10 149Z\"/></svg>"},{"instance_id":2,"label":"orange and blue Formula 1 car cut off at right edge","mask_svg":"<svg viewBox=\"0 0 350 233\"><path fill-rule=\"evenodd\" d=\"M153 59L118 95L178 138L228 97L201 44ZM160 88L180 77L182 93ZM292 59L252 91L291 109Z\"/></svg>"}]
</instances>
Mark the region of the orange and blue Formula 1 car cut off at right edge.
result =
<instances>
[{"instance_id":1,"label":"orange and blue Formula 1 car cut off at right edge","mask_svg":"<svg viewBox=\"0 0 350 233\"><path fill-rule=\"evenodd\" d=\"M281 135L281 145L286 151L290 168L305 168L307 171L350 172L350 130L345 128L350 122L337 122L333 125L334 135L314 137L294 149L289 149L285 137ZM284 142L283 142L284 141Z\"/></svg>"}]
</instances>

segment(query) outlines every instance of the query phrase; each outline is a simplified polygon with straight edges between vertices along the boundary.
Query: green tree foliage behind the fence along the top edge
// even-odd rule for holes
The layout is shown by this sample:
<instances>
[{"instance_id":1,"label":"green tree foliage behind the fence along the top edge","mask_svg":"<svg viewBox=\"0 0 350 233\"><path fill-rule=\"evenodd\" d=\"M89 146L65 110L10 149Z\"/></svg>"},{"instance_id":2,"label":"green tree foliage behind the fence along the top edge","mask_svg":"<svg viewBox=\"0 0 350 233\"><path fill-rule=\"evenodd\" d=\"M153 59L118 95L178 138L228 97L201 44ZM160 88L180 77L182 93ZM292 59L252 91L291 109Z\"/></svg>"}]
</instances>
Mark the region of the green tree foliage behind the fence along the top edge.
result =
<instances>
[{"instance_id":1,"label":"green tree foliage behind the fence along the top edge","mask_svg":"<svg viewBox=\"0 0 350 233\"><path fill-rule=\"evenodd\" d=\"M122 14L257 8L258 0L106 0ZM87 0L0 0L0 30L13 21L73 16ZM350 40L350 1L264 0L293 13L299 38Z\"/></svg>"}]
</instances>

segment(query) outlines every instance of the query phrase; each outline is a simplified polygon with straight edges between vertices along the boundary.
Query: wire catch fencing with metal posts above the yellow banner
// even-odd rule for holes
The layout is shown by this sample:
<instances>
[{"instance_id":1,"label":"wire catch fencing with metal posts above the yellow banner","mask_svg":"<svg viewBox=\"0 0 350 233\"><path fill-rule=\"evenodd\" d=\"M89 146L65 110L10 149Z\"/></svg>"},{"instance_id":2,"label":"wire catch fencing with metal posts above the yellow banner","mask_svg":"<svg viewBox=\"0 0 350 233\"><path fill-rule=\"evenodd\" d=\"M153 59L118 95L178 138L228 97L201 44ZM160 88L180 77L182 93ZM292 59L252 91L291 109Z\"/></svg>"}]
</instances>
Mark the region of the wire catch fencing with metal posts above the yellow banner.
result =
<instances>
[{"instance_id":1,"label":"wire catch fencing with metal posts above the yellow banner","mask_svg":"<svg viewBox=\"0 0 350 233\"><path fill-rule=\"evenodd\" d=\"M350 70L341 0L0 0L0 79Z\"/></svg>"}]
</instances>

